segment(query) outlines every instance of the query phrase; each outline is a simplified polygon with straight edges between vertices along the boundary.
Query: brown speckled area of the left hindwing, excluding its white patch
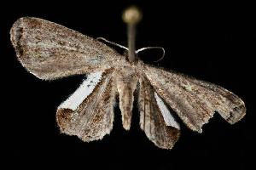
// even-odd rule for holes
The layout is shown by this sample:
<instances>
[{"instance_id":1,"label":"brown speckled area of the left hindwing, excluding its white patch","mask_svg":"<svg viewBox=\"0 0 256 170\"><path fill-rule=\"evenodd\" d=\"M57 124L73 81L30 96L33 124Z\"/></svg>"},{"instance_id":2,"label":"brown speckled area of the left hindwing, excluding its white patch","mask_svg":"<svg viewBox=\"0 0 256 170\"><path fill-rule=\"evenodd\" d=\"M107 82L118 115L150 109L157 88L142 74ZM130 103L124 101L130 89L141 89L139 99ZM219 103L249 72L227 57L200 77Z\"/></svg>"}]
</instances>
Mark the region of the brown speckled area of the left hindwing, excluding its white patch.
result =
<instances>
[{"instance_id":1,"label":"brown speckled area of the left hindwing, excluding its white patch","mask_svg":"<svg viewBox=\"0 0 256 170\"><path fill-rule=\"evenodd\" d=\"M113 105L117 94L113 71L105 71L93 92L72 111L58 109L56 121L61 133L77 135L85 142L102 139L113 127Z\"/></svg>"}]
</instances>

